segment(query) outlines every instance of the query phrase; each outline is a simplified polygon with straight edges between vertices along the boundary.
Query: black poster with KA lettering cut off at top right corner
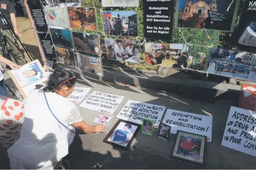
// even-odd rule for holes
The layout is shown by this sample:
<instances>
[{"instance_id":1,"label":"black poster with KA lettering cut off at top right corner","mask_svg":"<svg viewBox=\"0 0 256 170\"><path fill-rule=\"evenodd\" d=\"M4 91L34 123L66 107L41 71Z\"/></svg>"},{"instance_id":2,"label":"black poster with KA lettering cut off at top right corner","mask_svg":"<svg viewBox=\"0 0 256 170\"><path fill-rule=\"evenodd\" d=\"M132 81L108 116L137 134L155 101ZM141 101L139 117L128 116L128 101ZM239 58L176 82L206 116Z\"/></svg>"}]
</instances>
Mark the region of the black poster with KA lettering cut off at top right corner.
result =
<instances>
[{"instance_id":1,"label":"black poster with KA lettering cut off at top right corner","mask_svg":"<svg viewBox=\"0 0 256 170\"><path fill-rule=\"evenodd\" d=\"M256 1L244 0L243 13L235 31L235 44L243 51L255 51L256 47Z\"/></svg>"}]
</instances>

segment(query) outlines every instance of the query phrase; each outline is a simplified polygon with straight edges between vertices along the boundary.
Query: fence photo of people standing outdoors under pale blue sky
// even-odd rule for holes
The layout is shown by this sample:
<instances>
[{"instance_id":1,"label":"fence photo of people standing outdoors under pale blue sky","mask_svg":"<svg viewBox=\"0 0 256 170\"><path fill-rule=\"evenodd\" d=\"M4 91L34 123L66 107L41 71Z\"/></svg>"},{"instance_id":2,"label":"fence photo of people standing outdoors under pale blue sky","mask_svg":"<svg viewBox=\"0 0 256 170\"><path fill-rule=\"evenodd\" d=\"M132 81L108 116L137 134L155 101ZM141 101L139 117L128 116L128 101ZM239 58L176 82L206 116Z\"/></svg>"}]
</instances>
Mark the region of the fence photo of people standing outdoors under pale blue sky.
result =
<instances>
[{"instance_id":1,"label":"fence photo of people standing outdoors under pale blue sky","mask_svg":"<svg viewBox=\"0 0 256 170\"><path fill-rule=\"evenodd\" d=\"M105 11L102 22L106 35L138 36L138 18L136 11Z\"/></svg>"}]
</instances>

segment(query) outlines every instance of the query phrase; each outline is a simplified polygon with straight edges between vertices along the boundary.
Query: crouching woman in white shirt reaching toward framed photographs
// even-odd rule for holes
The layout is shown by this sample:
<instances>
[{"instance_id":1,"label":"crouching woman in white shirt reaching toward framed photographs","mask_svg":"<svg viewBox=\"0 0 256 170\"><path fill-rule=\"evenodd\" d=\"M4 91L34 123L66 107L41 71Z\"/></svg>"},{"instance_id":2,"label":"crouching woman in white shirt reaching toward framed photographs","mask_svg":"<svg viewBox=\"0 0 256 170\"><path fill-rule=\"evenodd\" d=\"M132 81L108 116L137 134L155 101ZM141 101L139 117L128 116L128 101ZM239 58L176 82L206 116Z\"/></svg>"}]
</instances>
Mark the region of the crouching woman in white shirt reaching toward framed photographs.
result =
<instances>
[{"instance_id":1,"label":"crouching woman in white shirt reaching toward framed photographs","mask_svg":"<svg viewBox=\"0 0 256 170\"><path fill-rule=\"evenodd\" d=\"M86 134L104 132L104 125L86 124L76 105L66 98L75 84L69 69L57 68L47 87L34 89L24 99L21 137L8 149L11 169L53 169L68 154L75 128ZM69 168L65 162L62 165Z\"/></svg>"}]
</instances>

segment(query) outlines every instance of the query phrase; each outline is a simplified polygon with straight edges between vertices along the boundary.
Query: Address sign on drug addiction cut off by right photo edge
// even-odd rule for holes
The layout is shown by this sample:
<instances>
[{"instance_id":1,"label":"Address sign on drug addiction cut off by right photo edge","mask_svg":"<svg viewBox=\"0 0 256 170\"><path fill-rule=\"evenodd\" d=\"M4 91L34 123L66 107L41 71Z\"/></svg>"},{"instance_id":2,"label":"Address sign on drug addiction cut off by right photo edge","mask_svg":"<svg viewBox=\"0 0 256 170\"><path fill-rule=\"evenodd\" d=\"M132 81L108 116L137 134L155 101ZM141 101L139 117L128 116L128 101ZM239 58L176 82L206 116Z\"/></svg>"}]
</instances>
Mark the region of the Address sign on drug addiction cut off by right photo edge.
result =
<instances>
[{"instance_id":1,"label":"Address sign on drug addiction cut off by right photo edge","mask_svg":"<svg viewBox=\"0 0 256 170\"><path fill-rule=\"evenodd\" d=\"M256 112L232 106L221 144L256 156Z\"/></svg>"}]
</instances>

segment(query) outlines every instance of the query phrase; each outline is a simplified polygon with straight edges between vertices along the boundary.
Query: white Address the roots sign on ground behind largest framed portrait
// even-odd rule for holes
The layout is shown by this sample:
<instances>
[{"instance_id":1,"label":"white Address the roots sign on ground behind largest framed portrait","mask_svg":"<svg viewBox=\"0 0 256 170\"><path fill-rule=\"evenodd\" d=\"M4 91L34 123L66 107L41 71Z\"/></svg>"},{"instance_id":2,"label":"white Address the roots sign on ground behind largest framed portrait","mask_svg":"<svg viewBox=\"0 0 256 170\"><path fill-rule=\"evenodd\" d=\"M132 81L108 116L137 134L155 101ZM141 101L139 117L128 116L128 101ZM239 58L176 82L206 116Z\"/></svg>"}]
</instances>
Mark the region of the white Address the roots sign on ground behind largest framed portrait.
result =
<instances>
[{"instance_id":1,"label":"white Address the roots sign on ground behind largest framed portrait","mask_svg":"<svg viewBox=\"0 0 256 170\"><path fill-rule=\"evenodd\" d=\"M142 125L142 119L147 118L154 121L154 128L158 128L165 110L165 106L129 100L116 115L116 118L134 122L140 125Z\"/></svg>"}]
</instances>

